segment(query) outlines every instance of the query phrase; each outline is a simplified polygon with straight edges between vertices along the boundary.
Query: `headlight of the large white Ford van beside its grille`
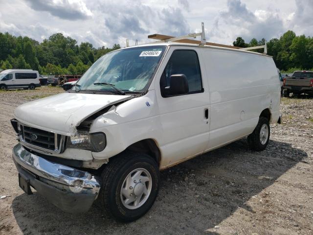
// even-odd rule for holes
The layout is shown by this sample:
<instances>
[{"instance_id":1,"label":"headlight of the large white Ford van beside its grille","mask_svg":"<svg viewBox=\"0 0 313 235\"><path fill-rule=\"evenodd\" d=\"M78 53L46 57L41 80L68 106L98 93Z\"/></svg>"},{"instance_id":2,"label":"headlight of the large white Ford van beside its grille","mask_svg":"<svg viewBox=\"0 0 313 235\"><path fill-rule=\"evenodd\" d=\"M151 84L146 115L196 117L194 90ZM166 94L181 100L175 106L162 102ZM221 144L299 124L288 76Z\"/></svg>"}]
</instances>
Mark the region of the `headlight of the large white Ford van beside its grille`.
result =
<instances>
[{"instance_id":1,"label":"headlight of the large white Ford van beside its grille","mask_svg":"<svg viewBox=\"0 0 313 235\"><path fill-rule=\"evenodd\" d=\"M67 137L68 148L79 148L92 152L101 152L107 145L106 135L102 132L79 133L76 136Z\"/></svg>"}]
</instances>

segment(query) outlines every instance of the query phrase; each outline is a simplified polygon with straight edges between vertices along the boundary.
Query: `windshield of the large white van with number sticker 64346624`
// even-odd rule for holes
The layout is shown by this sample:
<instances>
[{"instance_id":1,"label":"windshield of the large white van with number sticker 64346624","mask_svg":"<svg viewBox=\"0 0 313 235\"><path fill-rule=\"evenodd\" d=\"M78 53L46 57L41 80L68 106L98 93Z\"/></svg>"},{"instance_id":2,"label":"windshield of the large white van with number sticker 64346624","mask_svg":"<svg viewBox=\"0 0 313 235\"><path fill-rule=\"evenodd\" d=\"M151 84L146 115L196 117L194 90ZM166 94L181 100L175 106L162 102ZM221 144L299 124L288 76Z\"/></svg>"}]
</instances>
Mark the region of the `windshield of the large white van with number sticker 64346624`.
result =
<instances>
[{"instance_id":1,"label":"windshield of the large white van with number sticker 64346624","mask_svg":"<svg viewBox=\"0 0 313 235\"><path fill-rule=\"evenodd\" d=\"M165 46L134 47L108 53L79 79L76 91L145 92L165 49Z\"/></svg>"}]
</instances>

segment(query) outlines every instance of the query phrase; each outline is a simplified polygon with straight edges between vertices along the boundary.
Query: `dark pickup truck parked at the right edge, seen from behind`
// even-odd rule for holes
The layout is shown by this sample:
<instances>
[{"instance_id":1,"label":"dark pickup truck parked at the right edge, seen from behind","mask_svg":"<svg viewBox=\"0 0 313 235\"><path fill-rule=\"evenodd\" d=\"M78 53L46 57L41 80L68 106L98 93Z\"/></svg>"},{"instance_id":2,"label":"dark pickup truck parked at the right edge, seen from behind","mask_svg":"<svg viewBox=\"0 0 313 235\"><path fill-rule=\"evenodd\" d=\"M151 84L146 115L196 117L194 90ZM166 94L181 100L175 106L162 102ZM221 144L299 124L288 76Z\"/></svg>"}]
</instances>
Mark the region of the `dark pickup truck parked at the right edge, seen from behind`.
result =
<instances>
[{"instance_id":1,"label":"dark pickup truck parked at the right edge, seen from behind","mask_svg":"<svg viewBox=\"0 0 313 235\"><path fill-rule=\"evenodd\" d=\"M294 71L291 77L283 80L283 96L289 97L290 93L313 94L313 71Z\"/></svg>"}]
</instances>

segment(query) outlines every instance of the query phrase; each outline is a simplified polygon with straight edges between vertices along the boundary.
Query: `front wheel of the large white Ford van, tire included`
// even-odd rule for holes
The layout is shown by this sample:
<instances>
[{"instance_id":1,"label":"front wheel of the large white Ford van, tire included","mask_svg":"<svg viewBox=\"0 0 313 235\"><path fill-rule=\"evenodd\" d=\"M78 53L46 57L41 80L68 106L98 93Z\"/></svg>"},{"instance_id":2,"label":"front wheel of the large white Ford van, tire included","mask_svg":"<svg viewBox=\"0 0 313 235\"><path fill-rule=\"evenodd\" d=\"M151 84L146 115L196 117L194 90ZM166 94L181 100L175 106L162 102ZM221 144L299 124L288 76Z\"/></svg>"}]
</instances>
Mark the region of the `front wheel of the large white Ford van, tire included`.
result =
<instances>
[{"instance_id":1,"label":"front wheel of the large white Ford van, tire included","mask_svg":"<svg viewBox=\"0 0 313 235\"><path fill-rule=\"evenodd\" d=\"M139 178L135 173L140 173L141 170L142 173L138 177L142 179L137 182ZM127 178L131 180L127 181ZM147 181L148 183L144 183L141 181L143 178L150 180ZM154 159L143 153L124 152L114 157L102 172L99 192L101 208L121 222L134 221L152 207L159 190L159 182L160 174ZM142 185L147 188L146 194ZM122 188L124 193L122 193ZM128 197L131 203L128 205L124 202L124 200L127 201L127 198L124 197L126 194L127 196L130 195ZM138 198L141 194L139 198L141 202L134 199L136 194L138 194ZM139 204L135 205L133 201L137 201Z\"/></svg>"}]
</instances>

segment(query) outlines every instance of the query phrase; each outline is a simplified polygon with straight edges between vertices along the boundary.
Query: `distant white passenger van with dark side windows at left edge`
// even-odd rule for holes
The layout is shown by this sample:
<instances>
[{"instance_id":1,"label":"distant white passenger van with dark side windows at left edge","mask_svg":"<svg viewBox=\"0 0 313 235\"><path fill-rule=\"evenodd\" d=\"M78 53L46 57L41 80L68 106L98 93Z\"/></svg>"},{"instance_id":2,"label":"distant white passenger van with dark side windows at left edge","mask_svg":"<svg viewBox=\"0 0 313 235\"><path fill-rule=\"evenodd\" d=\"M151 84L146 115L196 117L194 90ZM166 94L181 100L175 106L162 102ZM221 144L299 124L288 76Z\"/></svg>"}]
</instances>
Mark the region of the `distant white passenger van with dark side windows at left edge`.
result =
<instances>
[{"instance_id":1,"label":"distant white passenger van with dark side windows at left edge","mask_svg":"<svg viewBox=\"0 0 313 235\"><path fill-rule=\"evenodd\" d=\"M39 73L34 70L4 70L0 72L0 90L40 87Z\"/></svg>"}]
</instances>

